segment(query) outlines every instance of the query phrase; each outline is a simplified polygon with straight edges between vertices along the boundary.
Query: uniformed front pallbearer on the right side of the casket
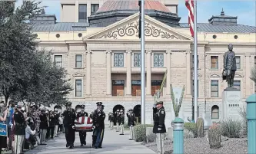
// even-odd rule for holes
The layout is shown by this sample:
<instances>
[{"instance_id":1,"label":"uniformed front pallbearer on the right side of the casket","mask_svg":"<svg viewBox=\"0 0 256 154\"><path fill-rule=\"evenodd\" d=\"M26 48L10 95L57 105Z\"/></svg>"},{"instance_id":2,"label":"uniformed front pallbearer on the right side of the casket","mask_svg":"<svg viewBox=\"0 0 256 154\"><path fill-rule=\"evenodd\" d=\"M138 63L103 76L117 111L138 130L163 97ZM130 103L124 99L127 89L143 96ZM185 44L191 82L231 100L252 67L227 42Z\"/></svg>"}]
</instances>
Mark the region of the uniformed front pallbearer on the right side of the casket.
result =
<instances>
[{"instance_id":1,"label":"uniformed front pallbearer on the right side of the casket","mask_svg":"<svg viewBox=\"0 0 256 154\"><path fill-rule=\"evenodd\" d=\"M93 125L95 127L94 137L95 137L95 149L101 148L102 134L105 129L105 113L102 110L102 102L97 102L97 110L94 112Z\"/></svg>"}]
</instances>

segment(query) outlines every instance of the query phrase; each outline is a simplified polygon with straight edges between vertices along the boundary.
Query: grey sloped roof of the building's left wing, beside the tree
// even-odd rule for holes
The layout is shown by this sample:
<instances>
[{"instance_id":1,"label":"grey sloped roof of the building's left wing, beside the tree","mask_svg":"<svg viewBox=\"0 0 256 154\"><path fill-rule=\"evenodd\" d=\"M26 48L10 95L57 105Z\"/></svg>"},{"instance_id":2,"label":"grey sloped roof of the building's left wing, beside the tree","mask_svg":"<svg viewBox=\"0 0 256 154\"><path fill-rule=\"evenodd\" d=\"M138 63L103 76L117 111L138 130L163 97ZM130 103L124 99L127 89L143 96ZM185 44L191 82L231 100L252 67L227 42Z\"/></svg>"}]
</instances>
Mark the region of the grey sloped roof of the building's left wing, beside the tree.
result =
<instances>
[{"instance_id":1,"label":"grey sloped roof of the building's left wing, beside the tree","mask_svg":"<svg viewBox=\"0 0 256 154\"><path fill-rule=\"evenodd\" d=\"M88 23L57 22L55 24L32 24L32 31L86 31Z\"/></svg>"}]
</instances>

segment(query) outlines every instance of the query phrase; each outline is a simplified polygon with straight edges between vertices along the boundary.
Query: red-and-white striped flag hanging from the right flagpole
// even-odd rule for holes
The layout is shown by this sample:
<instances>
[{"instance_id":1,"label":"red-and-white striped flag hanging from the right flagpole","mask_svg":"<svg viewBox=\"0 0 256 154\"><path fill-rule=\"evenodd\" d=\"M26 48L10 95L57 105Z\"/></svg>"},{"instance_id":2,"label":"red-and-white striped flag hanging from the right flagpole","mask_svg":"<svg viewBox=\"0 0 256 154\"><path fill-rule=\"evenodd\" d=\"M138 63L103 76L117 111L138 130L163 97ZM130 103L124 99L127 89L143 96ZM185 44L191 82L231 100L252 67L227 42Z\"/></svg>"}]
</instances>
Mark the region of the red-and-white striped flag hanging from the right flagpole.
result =
<instances>
[{"instance_id":1,"label":"red-and-white striped flag hanging from the right flagpole","mask_svg":"<svg viewBox=\"0 0 256 154\"><path fill-rule=\"evenodd\" d=\"M186 0L186 7L188 8L188 25L191 36L194 37L194 0Z\"/></svg>"}]
</instances>

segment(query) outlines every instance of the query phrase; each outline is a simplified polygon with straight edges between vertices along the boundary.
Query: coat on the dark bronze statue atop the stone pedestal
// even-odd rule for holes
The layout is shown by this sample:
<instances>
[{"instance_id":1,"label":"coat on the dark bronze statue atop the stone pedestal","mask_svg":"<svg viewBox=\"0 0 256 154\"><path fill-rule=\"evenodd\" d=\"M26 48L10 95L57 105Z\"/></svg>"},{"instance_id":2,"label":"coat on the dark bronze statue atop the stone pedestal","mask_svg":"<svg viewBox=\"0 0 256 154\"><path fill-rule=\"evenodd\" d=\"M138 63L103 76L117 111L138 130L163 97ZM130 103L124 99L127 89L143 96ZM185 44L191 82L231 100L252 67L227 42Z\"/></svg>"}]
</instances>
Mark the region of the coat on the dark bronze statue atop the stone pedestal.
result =
<instances>
[{"instance_id":1,"label":"coat on the dark bronze statue atop the stone pedestal","mask_svg":"<svg viewBox=\"0 0 256 154\"><path fill-rule=\"evenodd\" d=\"M237 64L234 51L227 51L223 56L224 70L237 70Z\"/></svg>"}]
</instances>

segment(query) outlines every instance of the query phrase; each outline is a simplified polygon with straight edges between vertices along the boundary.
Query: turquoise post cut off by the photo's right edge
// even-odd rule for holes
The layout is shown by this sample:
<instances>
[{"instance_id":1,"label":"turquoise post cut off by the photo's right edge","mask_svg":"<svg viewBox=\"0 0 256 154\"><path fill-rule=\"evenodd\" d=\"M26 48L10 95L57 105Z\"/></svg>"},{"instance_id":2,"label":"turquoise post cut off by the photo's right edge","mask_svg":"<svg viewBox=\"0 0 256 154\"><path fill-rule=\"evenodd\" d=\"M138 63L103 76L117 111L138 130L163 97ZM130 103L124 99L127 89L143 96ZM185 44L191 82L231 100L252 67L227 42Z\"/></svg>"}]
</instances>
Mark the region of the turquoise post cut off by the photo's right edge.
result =
<instances>
[{"instance_id":1,"label":"turquoise post cut off by the photo's right edge","mask_svg":"<svg viewBox=\"0 0 256 154\"><path fill-rule=\"evenodd\" d=\"M246 99L246 118L248 123L248 154L256 153L256 93Z\"/></svg>"}]
</instances>

